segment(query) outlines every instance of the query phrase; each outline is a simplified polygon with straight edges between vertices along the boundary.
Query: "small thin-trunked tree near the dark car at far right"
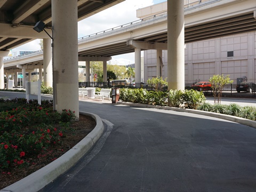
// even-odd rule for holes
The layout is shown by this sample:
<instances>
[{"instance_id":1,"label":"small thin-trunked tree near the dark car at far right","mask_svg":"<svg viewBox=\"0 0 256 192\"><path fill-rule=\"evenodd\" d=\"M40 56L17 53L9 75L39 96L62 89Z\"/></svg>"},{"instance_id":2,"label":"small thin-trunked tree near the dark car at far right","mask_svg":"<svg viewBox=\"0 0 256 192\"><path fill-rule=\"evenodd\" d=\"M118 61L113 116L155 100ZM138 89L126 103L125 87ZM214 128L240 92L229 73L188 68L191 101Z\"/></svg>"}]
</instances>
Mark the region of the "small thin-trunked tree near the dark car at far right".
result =
<instances>
[{"instance_id":1,"label":"small thin-trunked tree near the dark car at far right","mask_svg":"<svg viewBox=\"0 0 256 192\"><path fill-rule=\"evenodd\" d=\"M214 97L214 104L220 104L221 102L221 94L223 88L226 84L233 83L233 80L230 80L229 75L223 76L221 75L213 75L209 79L210 83L212 84L212 92Z\"/></svg>"}]
</instances>

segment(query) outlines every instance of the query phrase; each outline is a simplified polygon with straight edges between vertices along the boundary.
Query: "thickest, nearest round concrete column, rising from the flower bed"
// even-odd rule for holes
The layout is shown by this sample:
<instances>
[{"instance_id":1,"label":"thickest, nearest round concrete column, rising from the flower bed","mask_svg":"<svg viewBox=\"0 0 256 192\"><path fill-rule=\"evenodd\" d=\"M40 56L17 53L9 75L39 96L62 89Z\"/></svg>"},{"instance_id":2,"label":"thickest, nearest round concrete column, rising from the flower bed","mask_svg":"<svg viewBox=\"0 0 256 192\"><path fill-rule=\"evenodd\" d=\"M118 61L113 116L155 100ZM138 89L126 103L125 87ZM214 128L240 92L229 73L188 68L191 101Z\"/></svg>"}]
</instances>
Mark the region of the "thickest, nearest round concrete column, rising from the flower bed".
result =
<instances>
[{"instance_id":1,"label":"thickest, nearest round concrete column, rising from the flower bed","mask_svg":"<svg viewBox=\"0 0 256 192\"><path fill-rule=\"evenodd\" d=\"M77 0L52 0L54 109L75 111L78 103Z\"/></svg>"}]
</instances>

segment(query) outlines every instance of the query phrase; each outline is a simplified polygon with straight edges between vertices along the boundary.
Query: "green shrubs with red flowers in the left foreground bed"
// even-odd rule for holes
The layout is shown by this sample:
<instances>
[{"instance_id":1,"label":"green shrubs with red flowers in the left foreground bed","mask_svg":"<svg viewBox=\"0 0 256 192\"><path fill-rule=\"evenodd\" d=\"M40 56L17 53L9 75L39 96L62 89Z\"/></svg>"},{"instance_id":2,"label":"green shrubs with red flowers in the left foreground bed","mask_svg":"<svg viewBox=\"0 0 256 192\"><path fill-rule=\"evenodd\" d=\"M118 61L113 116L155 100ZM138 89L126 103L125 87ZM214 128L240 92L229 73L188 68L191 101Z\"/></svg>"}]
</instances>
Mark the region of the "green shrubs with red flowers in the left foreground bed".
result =
<instances>
[{"instance_id":1,"label":"green shrubs with red flowers in the left foreground bed","mask_svg":"<svg viewBox=\"0 0 256 192\"><path fill-rule=\"evenodd\" d=\"M31 156L37 156L51 145L61 143L75 111L53 111L51 102L22 103L20 107L0 111L0 169L28 165ZM3 101L0 100L0 104ZM15 102L15 101L14 101Z\"/></svg>"}]
</instances>

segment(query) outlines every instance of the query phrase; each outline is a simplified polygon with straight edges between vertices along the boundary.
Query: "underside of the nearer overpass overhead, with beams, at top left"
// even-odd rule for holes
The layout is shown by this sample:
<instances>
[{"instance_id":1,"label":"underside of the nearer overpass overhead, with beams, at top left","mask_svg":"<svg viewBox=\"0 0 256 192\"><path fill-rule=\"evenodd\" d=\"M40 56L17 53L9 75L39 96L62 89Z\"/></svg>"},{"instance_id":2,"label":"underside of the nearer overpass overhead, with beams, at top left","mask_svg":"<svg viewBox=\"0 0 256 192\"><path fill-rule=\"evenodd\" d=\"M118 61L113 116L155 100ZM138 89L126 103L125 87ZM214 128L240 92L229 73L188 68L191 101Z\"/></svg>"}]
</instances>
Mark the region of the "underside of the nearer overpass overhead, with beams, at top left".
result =
<instances>
[{"instance_id":1,"label":"underside of the nearer overpass overhead, with beams, at top left","mask_svg":"<svg viewBox=\"0 0 256 192\"><path fill-rule=\"evenodd\" d=\"M123 1L78 0L78 21ZM37 38L49 38L45 33L34 31L33 27L38 21L43 21L46 27L52 27L51 5L51 0L1 0L0 51L13 49Z\"/></svg>"}]
</instances>

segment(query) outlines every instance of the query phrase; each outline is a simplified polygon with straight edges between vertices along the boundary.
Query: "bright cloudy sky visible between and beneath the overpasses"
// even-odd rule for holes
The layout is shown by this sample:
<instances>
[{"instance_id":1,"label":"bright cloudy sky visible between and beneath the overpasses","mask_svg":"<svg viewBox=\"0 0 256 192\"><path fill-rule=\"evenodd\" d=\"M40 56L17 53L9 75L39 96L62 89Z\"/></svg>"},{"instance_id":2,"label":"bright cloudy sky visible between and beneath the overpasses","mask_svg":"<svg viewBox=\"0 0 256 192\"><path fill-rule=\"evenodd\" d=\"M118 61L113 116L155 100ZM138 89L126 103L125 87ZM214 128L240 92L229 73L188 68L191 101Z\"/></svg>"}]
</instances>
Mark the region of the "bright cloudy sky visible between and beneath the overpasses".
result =
<instances>
[{"instance_id":1,"label":"bright cloudy sky visible between and beneath the overpasses","mask_svg":"<svg viewBox=\"0 0 256 192\"><path fill-rule=\"evenodd\" d=\"M78 22L78 38L139 20L136 10L142 7L166 2L167 0L126 0ZM40 50L39 39L16 47L12 52ZM114 60L134 63L134 53L116 55Z\"/></svg>"}]
</instances>

